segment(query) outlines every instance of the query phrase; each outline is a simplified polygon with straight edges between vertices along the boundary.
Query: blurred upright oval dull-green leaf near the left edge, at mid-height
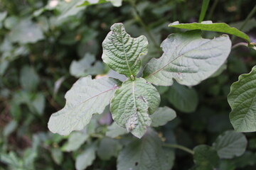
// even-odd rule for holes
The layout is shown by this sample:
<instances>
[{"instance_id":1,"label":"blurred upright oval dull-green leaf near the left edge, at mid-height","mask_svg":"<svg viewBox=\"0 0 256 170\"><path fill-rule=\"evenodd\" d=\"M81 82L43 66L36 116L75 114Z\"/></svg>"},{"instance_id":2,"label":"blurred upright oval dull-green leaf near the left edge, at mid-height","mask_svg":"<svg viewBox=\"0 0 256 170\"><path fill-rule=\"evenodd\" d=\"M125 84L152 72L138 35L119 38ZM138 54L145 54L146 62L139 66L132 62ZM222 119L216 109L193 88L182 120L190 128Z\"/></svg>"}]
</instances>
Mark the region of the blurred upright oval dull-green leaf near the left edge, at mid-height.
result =
<instances>
[{"instance_id":1,"label":"blurred upright oval dull-green leaf near the left edge, at mid-height","mask_svg":"<svg viewBox=\"0 0 256 170\"><path fill-rule=\"evenodd\" d=\"M37 88L39 83L39 77L33 67L24 66L21 69L20 83L22 88L26 89L27 91L33 91Z\"/></svg>"}]
</instances>

